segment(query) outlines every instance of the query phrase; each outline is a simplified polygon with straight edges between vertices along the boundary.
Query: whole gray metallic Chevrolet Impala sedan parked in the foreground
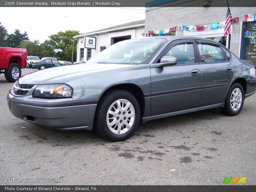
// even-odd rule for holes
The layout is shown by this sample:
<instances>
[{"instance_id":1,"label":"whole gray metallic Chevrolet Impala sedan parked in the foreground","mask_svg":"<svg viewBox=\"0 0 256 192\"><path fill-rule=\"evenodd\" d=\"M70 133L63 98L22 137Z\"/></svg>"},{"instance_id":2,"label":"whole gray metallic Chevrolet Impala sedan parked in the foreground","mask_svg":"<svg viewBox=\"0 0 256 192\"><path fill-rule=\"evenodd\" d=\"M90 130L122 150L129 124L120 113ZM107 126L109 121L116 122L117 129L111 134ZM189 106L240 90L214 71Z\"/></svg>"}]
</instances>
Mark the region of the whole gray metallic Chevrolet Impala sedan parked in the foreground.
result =
<instances>
[{"instance_id":1,"label":"whole gray metallic Chevrolet Impala sedan parked in the foreground","mask_svg":"<svg viewBox=\"0 0 256 192\"><path fill-rule=\"evenodd\" d=\"M237 115L256 91L255 68L204 38L164 36L119 42L86 64L21 77L12 114L44 127L129 138L140 121L220 107Z\"/></svg>"}]
</instances>

